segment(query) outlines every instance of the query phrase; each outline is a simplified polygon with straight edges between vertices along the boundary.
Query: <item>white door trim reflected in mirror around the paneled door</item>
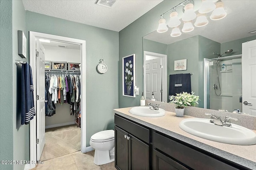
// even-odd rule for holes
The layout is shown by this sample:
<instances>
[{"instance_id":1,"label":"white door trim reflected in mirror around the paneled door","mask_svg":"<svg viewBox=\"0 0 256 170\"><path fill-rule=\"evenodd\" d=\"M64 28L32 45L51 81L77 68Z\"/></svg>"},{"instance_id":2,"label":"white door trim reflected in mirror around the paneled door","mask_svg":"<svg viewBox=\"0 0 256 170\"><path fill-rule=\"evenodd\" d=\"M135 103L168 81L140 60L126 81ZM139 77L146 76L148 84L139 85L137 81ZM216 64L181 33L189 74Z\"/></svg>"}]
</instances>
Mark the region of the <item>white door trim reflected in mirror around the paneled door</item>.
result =
<instances>
[{"instance_id":1,"label":"white door trim reflected in mirror around the paneled door","mask_svg":"<svg viewBox=\"0 0 256 170\"><path fill-rule=\"evenodd\" d=\"M154 57L161 57L163 59L163 66L164 66L164 74L163 74L163 101L167 102L167 55L160 54L160 53L153 53L150 51L144 51L143 55L143 82L146 82L146 68L144 64L146 63L146 55L154 56ZM144 83L144 95L146 95L146 83Z\"/></svg>"}]
</instances>

